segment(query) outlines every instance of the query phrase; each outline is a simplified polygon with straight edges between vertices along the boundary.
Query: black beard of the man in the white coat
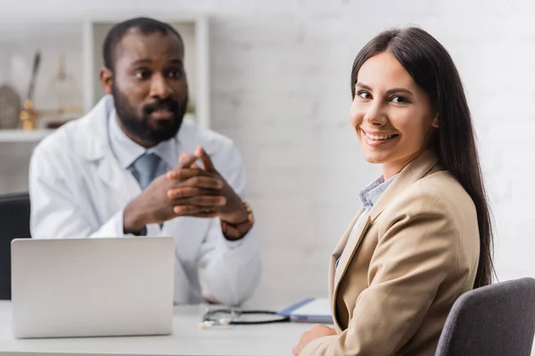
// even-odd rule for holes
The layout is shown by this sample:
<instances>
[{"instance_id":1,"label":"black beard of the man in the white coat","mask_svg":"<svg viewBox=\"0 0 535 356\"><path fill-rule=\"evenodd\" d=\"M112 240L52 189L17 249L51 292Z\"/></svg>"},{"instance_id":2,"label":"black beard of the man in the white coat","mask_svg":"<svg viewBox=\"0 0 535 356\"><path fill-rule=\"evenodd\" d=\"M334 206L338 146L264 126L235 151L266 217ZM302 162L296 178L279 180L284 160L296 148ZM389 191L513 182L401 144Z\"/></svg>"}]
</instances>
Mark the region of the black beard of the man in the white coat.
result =
<instances>
[{"instance_id":1,"label":"black beard of the man in the white coat","mask_svg":"<svg viewBox=\"0 0 535 356\"><path fill-rule=\"evenodd\" d=\"M142 117L136 115L136 110L129 104L128 99L123 93L120 93L115 85L111 85L111 93L115 103L117 117L125 130L129 134L136 136L144 142L151 142L157 145L160 142L168 141L177 135L178 129L184 120L185 109L187 108L188 97L185 100L177 102L174 99L166 98L163 100L153 101L143 107ZM168 109L173 117L169 120L152 120L150 114L158 109Z\"/></svg>"}]
</instances>

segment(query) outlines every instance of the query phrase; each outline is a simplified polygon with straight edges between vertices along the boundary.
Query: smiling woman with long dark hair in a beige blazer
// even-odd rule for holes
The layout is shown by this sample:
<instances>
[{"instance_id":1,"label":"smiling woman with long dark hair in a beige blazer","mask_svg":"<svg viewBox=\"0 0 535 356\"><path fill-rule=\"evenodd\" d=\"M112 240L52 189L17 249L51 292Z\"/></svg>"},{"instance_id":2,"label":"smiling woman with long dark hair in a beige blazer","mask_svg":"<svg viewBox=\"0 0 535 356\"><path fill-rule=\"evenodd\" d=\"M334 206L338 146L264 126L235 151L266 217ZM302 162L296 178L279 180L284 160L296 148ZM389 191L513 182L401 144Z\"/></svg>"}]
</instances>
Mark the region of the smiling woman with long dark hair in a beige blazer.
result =
<instances>
[{"instance_id":1,"label":"smiling woman with long dark hair in a beige blazer","mask_svg":"<svg viewBox=\"0 0 535 356\"><path fill-rule=\"evenodd\" d=\"M434 355L459 295L490 284L492 233L470 111L446 49L393 29L358 53L350 123L383 175L331 259L334 328L300 355Z\"/></svg>"}]
</instances>

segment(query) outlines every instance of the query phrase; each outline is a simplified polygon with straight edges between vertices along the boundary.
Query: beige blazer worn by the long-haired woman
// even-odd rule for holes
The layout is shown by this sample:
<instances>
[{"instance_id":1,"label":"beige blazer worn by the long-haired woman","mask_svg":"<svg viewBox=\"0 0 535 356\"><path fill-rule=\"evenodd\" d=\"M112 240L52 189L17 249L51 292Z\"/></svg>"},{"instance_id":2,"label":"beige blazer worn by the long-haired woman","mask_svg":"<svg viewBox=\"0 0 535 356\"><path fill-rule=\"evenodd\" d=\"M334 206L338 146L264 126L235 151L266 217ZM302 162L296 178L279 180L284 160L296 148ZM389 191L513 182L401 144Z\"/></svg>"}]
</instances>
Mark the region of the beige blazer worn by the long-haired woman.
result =
<instances>
[{"instance_id":1,"label":"beige blazer worn by the long-haired woman","mask_svg":"<svg viewBox=\"0 0 535 356\"><path fill-rule=\"evenodd\" d=\"M434 355L451 306L473 288L480 242L472 199L426 150L350 236L362 212L331 257L338 335L301 355Z\"/></svg>"}]
</instances>

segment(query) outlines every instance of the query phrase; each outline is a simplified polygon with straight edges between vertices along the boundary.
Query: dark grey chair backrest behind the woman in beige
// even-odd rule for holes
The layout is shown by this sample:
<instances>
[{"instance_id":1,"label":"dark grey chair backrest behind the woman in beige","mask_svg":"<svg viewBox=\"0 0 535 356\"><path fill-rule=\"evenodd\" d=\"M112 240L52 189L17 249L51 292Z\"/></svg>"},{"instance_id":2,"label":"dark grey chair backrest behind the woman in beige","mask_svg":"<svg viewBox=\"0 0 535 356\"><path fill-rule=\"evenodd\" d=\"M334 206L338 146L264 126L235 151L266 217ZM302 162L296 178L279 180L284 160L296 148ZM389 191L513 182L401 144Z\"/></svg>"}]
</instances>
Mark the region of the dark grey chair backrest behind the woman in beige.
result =
<instances>
[{"instance_id":1,"label":"dark grey chair backrest behind the woman in beige","mask_svg":"<svg viewBox=\"0 0 535 356\"><path fill-rule=\"evenodd\" d=\"M507 280L461 295L449 312L436 356L530 356L535 279Z\"/></svg>"}]
</instances>

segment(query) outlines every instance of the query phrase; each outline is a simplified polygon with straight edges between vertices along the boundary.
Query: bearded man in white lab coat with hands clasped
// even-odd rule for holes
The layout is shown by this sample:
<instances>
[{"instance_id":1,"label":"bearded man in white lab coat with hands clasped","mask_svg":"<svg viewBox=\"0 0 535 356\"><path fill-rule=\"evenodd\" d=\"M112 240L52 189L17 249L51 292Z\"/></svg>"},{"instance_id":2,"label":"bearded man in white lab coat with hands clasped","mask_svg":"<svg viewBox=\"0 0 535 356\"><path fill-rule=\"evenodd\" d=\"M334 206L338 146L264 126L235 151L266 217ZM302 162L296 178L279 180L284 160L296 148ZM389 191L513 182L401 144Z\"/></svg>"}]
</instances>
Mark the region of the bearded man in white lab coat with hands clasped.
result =
<instances>
[{"instance_id":1,"label":"bearded man in white lab coat with hands clasped","mask_svg":"<svg viewBox=\"0 0 535 356\"><path fill-rule=\"evenodd\" d=\"M260 276L242 158L228 138L184 118L184 52L157 20L111 28L100 73L107 94L31 158L31 234L172 236L175 302L238 304Z\"/></svg>"}]
</instances>

